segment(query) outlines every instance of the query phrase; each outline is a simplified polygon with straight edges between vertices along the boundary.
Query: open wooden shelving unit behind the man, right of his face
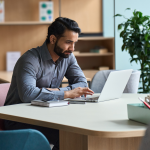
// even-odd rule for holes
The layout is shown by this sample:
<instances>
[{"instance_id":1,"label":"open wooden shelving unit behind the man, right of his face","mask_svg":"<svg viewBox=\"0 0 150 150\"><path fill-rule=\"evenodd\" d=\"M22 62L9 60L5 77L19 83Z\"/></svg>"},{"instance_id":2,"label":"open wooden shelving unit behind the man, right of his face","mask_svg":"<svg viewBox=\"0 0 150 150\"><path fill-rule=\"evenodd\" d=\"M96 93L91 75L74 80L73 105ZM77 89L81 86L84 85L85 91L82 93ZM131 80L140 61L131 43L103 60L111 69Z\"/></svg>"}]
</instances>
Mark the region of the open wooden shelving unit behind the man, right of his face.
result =
<instances>
[{"instance_id":1,"label":"open wooden shelving unit behind the man, right of his face","mask_svg":"<svg viewBox=\"0 0 150 150\"><path fill-rule=\"evenodd\" d=\"M95 46L105 47L108 53L90 53ZM86 77L93 78L101 66L115 69L114 38L79 37L75 49L79 51L75 56Z\"/></svg>"}]
</instances>

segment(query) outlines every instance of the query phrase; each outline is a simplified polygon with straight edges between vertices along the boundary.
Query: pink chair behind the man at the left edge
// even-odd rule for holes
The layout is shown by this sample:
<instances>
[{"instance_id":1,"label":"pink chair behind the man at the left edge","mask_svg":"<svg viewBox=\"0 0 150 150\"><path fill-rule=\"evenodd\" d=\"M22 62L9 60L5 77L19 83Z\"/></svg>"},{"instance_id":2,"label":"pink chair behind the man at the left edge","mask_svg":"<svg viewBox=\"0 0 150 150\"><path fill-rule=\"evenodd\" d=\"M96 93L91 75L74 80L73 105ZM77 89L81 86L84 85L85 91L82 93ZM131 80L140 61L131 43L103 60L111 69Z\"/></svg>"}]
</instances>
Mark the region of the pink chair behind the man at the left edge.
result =
<instances>
[{"instance_id":1,"label":"pink chair behind the man at the left edge","mask_svg":"<svg viewBox=\"0 0 150 150\"><path fill-rule=\"evenodd\" d=\"M10 83L0 84L0 106L4 106ZM3 120L0 119L0 130L4 130Z\"/></svg>"}]
</instances>

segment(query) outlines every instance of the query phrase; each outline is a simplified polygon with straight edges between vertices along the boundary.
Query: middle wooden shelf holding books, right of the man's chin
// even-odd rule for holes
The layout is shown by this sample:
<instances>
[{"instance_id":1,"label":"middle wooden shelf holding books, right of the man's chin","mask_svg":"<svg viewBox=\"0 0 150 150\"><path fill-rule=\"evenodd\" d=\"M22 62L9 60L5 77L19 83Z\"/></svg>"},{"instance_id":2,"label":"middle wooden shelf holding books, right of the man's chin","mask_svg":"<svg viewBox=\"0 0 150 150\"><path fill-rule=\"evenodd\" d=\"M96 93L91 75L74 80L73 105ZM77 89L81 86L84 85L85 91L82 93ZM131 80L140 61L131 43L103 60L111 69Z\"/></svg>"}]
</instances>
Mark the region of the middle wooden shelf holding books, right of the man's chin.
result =
<instances>
[{"instance_id":1,"label":"middle wooden shelf holding books, right of the man's chin","mask_svg":"<svg viewBox=\"0 0 150 150\"><path fill-rule=\"evenodd\" d=\"M76 57L91 57L91 56L112 56L113 53L106 53L106 54L100 54L100 53L79 53L79 54L74 54Z\"/></svg>"}]
</instances>

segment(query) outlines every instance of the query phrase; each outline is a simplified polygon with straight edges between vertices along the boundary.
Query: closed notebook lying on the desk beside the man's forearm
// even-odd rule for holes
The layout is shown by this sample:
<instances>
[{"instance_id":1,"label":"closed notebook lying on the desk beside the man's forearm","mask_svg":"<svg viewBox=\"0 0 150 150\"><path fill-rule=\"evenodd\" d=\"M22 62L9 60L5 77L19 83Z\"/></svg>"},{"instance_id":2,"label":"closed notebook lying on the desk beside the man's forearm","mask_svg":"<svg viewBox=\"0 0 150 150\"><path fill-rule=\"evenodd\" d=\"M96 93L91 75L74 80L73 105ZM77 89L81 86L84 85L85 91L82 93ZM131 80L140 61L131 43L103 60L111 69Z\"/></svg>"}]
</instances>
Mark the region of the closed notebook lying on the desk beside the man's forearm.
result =
<instances>
[{"instance_id":1,"label":"closed notebook lying on the desk beside the man's forearm","mask_svg":"<svg viewBox=\"0 0 150 150\"><path fill-rule=\"evenodd\" d=\"M43 107L58 107L69 105L68 101L58 100L58 101L46 101L46 100L32 100L31 105L43 106Z\"/></svg>"}]
</instances>

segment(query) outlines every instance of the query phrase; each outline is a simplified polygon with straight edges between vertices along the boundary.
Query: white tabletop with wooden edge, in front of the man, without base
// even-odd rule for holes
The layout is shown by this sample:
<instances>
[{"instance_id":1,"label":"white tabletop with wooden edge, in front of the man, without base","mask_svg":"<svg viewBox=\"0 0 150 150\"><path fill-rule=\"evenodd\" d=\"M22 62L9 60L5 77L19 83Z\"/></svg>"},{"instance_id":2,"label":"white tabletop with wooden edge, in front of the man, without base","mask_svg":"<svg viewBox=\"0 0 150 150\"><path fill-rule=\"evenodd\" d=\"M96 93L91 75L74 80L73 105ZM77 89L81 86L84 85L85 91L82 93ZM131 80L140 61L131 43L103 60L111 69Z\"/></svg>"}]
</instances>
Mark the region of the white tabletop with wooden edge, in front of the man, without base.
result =
<instances>
[{"instance_id":1,"label":"white tabletop with wooden edge, in front of the man, without base","mask_svg":"<svg viewBox=\"0 0 150 150\"><path fill-rule=\"evenodd\" d=\"M64 107L38 107L29 103L0 107L0 118L107 138L141 137L146 125L128 120L127 104L140 103L139 94ZM140 94L140 97L146 95Z\"/></svg>"}]
</instances>

